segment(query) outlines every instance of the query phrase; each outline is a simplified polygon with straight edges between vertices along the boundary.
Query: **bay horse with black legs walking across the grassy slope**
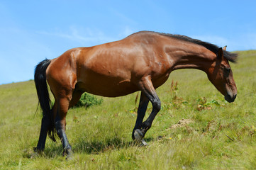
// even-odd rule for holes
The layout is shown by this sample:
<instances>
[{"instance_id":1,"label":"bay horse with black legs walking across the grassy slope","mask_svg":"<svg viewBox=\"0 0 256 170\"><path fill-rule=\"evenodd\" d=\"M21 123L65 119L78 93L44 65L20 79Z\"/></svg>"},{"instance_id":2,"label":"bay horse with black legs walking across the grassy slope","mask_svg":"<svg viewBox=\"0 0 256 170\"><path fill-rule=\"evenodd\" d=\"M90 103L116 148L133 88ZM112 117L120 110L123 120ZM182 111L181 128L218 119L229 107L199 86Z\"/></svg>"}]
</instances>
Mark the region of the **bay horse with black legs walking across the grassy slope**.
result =
<instances>
[{"instance_id":1,"label":"bay horse with black legs walking across the grassy slope","mask_svg":"<svg viewBox=\"0 0 256 170\"><path fill-rule=\"evenodd\" d=\"M84 92L117 97L141 91L138 115L132 138L146 145L143 137L160 111L161 102L155 92L176 69L200 69L225 96L235 100L237 89L230 68L238 55L216 45L184 35L141 31L123 40L94 47L67 50L52 60L35 67L35 86L43 118L35 151L43 152L47 134L55 141L60 137L63 155L69 157L72 147L67 140L66 115ZM55 98L51 106L48 85ZM152 112L143 122L149 101Z\"/></svg>"}]
</instances>

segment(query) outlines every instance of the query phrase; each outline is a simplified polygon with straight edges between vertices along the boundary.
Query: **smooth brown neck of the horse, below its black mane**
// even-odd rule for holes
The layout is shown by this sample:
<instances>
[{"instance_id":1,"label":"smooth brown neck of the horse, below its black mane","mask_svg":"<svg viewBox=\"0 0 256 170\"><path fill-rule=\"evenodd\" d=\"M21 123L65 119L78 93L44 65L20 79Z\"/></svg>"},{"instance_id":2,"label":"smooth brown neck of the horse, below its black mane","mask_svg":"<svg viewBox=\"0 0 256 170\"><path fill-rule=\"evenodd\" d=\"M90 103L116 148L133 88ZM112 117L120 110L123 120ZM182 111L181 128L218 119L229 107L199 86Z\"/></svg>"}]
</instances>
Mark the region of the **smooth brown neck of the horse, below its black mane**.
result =
<instances>
[{"instance_id":1,"label":"smooth brown neck of the horse, below its black mane","mask_svg":"<svg viewBox=\"0 0 256 170\"><path fill-rule=\"evenodd\" d=\"M211 66L216 55L200 45L184 45L167 52L175 69L201 69L204 72Z\"/></svg>"}]
</instances>

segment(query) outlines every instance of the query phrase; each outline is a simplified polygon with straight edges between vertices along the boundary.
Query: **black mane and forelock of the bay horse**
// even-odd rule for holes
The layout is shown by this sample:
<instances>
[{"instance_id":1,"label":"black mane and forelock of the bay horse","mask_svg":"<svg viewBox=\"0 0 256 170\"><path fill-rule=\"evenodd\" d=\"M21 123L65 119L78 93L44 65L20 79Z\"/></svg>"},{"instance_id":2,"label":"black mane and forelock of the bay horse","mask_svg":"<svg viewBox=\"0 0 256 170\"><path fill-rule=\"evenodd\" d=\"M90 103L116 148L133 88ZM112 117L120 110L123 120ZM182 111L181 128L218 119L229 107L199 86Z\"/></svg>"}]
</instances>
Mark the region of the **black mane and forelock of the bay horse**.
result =
<instances>
[{"instance_id":1,"label":"black mane and forelock of the bay horse","mask_svg":"<svg viewBox=\"0 0 256 170\"><path fill-rule=\"evenodd\" d=\"M201 40L196 40L196 39L193 39L193 38L189 38L185 35L176 35L176 34L174 35L174 34L167 34L167 33L159 33L159 34L160 35L165 35L165 36L168 36L168 37L171 37L171 38L176 38L176 39L179 39L179 40L184 40L184 41L187 41L187 42L192 42L192 43L197 44L197 45L204 46L208 50L214 52L215 54L217 54L218 49L220 48L217 45L213 45L209 42L204 42L204 41L201 41ZM231 53L231 52L228 52L226 50L223 50L223 55L230 62L236 62L237 57L238 57L238 54Z\"/></svg>"}]
</instances>

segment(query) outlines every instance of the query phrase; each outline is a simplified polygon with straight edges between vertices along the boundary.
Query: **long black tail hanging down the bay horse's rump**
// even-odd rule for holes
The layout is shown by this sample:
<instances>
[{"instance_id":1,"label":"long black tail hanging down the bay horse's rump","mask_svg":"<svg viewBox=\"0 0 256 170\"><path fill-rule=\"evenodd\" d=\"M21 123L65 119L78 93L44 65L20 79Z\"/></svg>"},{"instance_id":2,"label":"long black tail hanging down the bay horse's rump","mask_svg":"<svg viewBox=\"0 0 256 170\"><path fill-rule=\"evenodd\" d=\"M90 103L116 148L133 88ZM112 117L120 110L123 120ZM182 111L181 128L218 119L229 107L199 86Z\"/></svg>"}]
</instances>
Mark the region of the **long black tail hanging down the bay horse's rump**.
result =
<instances>
[{"instance_id":1,"label":"long black tail hanging down the bay horse's rump","mask_svg":"<svg viewBox=\"0 0 256 170\"><path fill-rule=\"evenodd\" d=\"M51 60L43 60L35 67L35 88L38 93L38 101L43 110L43 117L50 120L50 128L48 130L48 135L51 140L55 140L55 125L53 120L51 101L48 92L48 85L46 82L46 69L49 66Z\"/></svg>"}]
</instances>

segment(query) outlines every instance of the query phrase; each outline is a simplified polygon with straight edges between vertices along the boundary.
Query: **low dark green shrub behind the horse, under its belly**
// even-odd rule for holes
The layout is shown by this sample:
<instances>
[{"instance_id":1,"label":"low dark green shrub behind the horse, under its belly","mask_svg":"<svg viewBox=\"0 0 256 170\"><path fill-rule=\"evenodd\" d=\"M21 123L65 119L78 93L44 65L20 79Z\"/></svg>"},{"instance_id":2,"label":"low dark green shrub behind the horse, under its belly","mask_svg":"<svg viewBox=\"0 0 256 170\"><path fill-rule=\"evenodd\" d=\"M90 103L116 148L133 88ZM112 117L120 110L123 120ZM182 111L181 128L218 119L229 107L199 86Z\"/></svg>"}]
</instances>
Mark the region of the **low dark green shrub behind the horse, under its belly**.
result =
<instances>
[{"instance_id":1,"label":"low dark green shrub behind the horse, under its belly","mask_svg":"<svg viewBox=\"0 0 256 170\"><path fill-rule=\"evenodd\" d=\"M103 99L97 99L95 96L91 94L84 93L82 94L80 100L74 107L90 107L94 105L100 105L103 102Z\"/></svg>"}]
</instances>

